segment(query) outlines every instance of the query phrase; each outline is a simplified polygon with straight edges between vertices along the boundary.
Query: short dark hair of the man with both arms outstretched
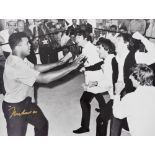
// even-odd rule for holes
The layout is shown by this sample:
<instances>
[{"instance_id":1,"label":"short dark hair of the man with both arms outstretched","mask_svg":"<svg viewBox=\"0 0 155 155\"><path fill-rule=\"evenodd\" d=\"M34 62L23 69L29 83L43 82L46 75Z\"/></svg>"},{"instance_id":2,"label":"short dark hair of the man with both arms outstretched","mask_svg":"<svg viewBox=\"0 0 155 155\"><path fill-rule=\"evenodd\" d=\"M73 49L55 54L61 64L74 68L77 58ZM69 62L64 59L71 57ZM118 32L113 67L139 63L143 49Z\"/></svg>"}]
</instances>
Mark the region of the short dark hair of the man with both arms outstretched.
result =
<instances>
[{"instance_id":1,"label":"short dark hair of the man with both arms outstretched","mask_svg":"<svg viewBox=\"0 0 155 155\"><path fill-rule=\"evenodd\" d=\"M15 47L22 41L22 38L27 38L26 33L24 33L24 32L17 32L17 33L13 33L9 37L9 45L10 45L12 50L14 50Z\"/></svg>"}]
</instances>

